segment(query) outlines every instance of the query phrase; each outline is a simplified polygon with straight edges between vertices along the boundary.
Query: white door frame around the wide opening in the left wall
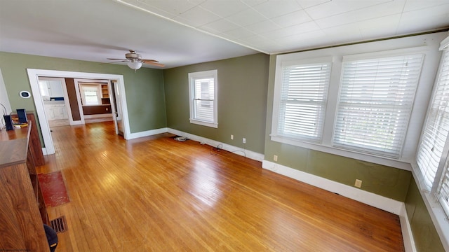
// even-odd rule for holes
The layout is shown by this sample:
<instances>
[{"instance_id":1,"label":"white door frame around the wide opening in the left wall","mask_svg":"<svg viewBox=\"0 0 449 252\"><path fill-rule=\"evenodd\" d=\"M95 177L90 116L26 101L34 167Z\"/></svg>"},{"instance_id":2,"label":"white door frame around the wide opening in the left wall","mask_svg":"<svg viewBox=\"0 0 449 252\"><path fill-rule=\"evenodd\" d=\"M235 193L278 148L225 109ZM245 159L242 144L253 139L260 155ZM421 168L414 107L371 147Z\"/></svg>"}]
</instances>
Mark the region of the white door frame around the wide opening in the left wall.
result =
<instances>
[{"instance_id":1,"label":"white door frame around the wide opening in the left wall","mask_svg":"<svg viewBox=\"0 0 449 252\"><path fill-rule=\"evenodd\" d=\"M56 70L44 70L44 69L27 69L29 84L31 85L32 95L34 97L34 105L36 106L36 113L39 118L39 124L41 126L41 133L43 138L44 155L50 155L55 153L55 146L53 146L53 139L51 138L50 126L48 125L47 118L45 116L45 109L43 106L43 100L41 97L41 91L39 90L39 77L60 77L60 78L88 78L88 79L108 79L117 80L117 84L120 88L121 94L121 106L123 112L123 137L128 139L130 137L130 128L128 120L128 108L126 106L125 95L125 82L122 75L107 74L107 73L84 73L74 71L56 71Z\"/></svg>"}]
</instances>

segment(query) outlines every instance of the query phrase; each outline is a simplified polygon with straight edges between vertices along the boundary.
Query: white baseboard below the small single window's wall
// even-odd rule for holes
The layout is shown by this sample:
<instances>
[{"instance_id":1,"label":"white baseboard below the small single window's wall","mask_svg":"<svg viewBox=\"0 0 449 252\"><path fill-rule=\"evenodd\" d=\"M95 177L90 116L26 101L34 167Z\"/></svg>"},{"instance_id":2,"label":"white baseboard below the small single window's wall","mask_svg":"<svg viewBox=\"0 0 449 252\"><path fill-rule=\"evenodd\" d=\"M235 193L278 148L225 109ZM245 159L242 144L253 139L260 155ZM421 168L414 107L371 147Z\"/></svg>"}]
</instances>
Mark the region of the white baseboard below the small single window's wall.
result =
<instances>
[{"instance_id":1,"label":"white baseboard below the small single window's wall","mask_svg":"<svg viewBox=\"0 0 449 252\"><path fill-rule=\"evenodd\" d=\"M225 151L229 151L229 152L235 153L237 155L241 155L243 157L250 158L252 160L257 160L257 161L260 161L260 162L262 162L262 160L264 160L264 155L263 154L256 153L254 151L248 151L248 150L243 149L243 148L239 148L239 147L232 146L232 145L229 145L229 144L224 144L222 142L215 141L215 140L212 140L212 139L207 139L205 137L199 137L199 136L196 136L194 134L189 134L189 133L186 133L186 132L182 132L180 130L173 130L173 129L168 128L168 132L170 132L171 134L175 134L177 136L180 136L180 137L187 137L188 139L192 139L193 141L199 141L200 143L207 144L208 146L213 146L213 147L220 146L220 148L222 148Z\"/></svg>"}]
</instances>

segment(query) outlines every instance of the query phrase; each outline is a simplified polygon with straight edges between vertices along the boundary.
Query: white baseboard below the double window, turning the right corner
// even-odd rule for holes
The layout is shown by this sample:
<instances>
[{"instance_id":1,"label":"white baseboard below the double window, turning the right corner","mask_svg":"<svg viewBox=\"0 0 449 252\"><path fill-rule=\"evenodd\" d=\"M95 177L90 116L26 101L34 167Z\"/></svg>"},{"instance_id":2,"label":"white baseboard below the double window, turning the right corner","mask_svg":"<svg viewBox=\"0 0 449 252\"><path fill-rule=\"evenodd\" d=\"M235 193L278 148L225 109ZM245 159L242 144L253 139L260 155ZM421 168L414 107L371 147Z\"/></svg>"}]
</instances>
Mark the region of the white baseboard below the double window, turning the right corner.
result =
<instances>
[{"instance_id":1,"label":"white baseboard below the double window, turning the right corner","mask_svg":"<svg viewBox=\"0 0 449 252\"><path fill-rule=\"evenodd\" d=\"M329 179L324 179L321 176L308 174L307 172L302 172L300 170L279 165L267 160L262 161L262 168L276 172L277 174L281 174L283 176L288 176L289 178L307 183L311 186L316 186L332 193L338 193L339 195L348 197L351 200L368 204L372 207L388 211L392 214L397 214L401 221L404 247L407 252L416 252L415 241L413 239L412 230L410 228L410 223L406 213L406 205L403 202L392 200L384 196L376 195L375 193L370 193L352 186L347 186Z\"/></svg>"}]
</instances>

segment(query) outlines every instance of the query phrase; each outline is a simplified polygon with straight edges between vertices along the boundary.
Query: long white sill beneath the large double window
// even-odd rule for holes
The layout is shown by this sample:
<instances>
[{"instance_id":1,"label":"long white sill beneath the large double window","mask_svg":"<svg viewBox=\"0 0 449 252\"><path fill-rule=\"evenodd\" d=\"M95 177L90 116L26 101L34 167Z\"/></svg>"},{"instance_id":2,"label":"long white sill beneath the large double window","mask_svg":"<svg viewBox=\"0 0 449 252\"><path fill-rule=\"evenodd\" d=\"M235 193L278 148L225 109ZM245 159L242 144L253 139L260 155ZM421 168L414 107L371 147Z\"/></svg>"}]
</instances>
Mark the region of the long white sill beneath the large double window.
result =
<instances>
[{"instance_id":1,"label":"long white sill beneath the large double window","mask_svg":"<svg viewBox=\"0 0 449 252\"><path fill-rule=\"evenodd\" d=\"M298 146L298 147L302 147L302 148L309 148L314 151L321 151L321 152L330 153L333 155L340 155L340 156L346 157L346 158L354 158L356 160L373 162L373 163L379 164L379 165L386 165L389 167L395 167L398 169L411 171L410 162L407 162L406 160L393 160L393 159L389 159L389 158L385 158L385 157L369 155L366 153L357 153L355 151L343 150L340 148L335 148L333 146L326 146L323 144L311 144L311 143L299 141L296 139L288 139L286 137L271 136L271 140L282 143L282 144L289 144L289 145Z\"/></svg>"}]
</instances>

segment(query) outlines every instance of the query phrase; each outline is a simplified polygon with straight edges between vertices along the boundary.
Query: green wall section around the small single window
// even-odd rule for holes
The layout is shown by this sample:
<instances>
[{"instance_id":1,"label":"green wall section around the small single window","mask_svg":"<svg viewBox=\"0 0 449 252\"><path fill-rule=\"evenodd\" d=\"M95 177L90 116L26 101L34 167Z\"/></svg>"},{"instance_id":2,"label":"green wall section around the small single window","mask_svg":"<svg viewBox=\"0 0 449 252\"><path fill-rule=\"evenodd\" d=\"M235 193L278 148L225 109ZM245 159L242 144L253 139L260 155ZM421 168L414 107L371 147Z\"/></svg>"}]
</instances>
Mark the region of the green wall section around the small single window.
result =
<instances>
[{"instance_id":1,"label":"green wall section around the small single window","mask_svg":"<svg viewBox=\"0 0 449 252\"><path fill-rule=\"evenodd\" d=\"M260 53L164 70L168 127L263 153L268 68L269 56ZM217 129L189 122L188 73L213 69L218 75Z\"/></svg>"}]
</instances>

